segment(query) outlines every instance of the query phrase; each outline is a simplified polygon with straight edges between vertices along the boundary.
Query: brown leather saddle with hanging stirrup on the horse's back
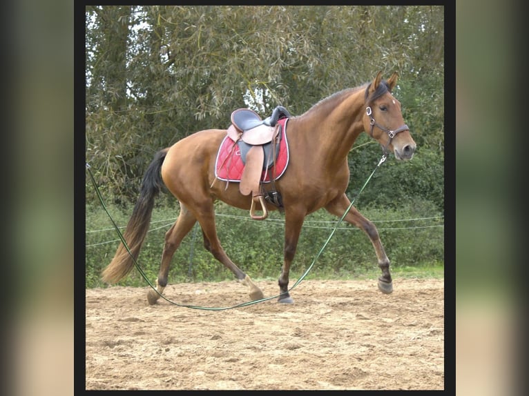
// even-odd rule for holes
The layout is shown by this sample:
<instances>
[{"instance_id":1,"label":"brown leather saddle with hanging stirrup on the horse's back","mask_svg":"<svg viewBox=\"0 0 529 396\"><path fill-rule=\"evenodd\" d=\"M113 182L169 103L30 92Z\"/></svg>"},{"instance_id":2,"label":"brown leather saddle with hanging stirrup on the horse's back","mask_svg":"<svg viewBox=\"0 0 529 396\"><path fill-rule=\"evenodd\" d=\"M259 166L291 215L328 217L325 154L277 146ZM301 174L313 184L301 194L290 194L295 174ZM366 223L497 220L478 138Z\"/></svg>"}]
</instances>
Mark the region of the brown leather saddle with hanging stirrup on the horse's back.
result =
<instances>
[{"instance_id":1,"label":"brown leather saddle with hanging stirrup on the horse's back","mask_svg":"<svg viewBox=\"0 0 529 396\"><path fill-rule=\"evenodd\" d=\"M264 203L264 195L261 192L262 171L267 169L265 164L264 145L271 143L271 158L275 163L278 142L281 135L281 126L278 120L284 117L291 117L290 113L282 106L277 106L270 117L261 119L253 110L240 108L231 113L231 125L227 134L231 140L243 141L251 147L246 153L246 163L240 179L239 190L242 195L251 193L250 216L255 220L263 220L268 217L268 210ZM267 161L268 162L268 161ZM256 215L256 203L259 202L262 215Z\"/></svg>"}]
</instances>

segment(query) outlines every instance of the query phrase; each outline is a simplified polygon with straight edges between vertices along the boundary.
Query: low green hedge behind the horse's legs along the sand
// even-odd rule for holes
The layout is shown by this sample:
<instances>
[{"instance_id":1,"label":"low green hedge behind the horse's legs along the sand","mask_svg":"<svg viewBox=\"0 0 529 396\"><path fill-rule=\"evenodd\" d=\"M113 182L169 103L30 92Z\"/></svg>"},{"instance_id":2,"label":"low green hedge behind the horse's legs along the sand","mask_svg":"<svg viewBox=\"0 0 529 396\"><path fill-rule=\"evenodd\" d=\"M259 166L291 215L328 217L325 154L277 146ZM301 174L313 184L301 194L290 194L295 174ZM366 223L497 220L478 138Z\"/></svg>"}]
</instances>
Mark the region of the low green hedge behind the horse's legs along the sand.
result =
<instances>
[{"instance_id":1,"label":"low green hedge behind the horse's legs along the sand","mask_svg":"<svg viewBox=\"0 0 529 396\"><path fill-rule=\"evenodd\" d=\"M160 200L164 202L164 200ZM165 204L165 202L164 202ZM164 234L175 221L175 208L158 206L153 211L138 263L154 281L160 267ZM119 226L125 226L131 209L109 206L110 215ZM363 214L374 221L392 268L438 266L444 261L443 215L436 204L414 200L398 208L363 208ZM251 220L244 210L217 204L218 235L224 250L253 279L278 279L282 266L284 217L271 212L264 221ZM433 217L433 218L432 218ZM427 218L427 219L426 219ZM291 266L291 279L302 275L325 244L338 218L325 210L309 215L300 235L298 250ZM122 229L123 230L123 229ZM102 206L86 208L86 287L104 287L100 279L118 246L117 232ZM342 223L327 244L310 277L356 277L377 269L376 255L369 238L358 228ZM173 257L169 283L180 281L220 281L234 279L233 274L216 261L202 245L198 224L184 238ZM137 270L119 282L122 286L145 286Z\"/></svg>"}]
</instances>

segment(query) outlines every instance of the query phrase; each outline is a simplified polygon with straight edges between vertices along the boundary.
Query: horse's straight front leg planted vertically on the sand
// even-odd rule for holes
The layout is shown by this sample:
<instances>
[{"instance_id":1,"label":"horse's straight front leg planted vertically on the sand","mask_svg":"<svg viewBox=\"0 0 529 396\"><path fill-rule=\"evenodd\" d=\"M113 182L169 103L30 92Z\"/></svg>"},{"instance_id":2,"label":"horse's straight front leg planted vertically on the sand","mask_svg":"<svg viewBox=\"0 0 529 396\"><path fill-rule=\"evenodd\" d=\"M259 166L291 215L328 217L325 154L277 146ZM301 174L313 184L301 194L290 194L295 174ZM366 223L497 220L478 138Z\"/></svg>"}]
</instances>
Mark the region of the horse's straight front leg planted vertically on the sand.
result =
<instances>
[{"instance_id":1,"label":"horse's straight front leg planted vertically on the sand","mask_svg":"<svg viewBox=\"0 0 529 396\"><path fill-rule=\"evenodd\" d=\"M301 226L305 219L305 212L285 212L285 247L283 250L283 266L281 275L278 280L280 295L278 302L283 304L293 304L294 299L290 297L289 290L289 273L290 265L296 255L296 248L298 247L298 240L300 237Z\"/></svg>"}]
</instances>

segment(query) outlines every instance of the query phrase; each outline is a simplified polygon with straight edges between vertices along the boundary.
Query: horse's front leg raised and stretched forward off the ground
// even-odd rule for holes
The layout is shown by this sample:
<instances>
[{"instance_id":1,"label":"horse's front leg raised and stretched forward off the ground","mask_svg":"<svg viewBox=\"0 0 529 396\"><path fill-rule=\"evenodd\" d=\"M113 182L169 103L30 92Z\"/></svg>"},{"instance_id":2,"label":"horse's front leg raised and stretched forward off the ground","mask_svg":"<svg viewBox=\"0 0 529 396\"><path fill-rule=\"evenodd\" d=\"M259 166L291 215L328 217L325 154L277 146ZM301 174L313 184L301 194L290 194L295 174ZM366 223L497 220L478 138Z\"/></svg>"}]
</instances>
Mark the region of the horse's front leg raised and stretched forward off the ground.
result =
<instances>
[{"instance_id":1,"label":"horse's front leg raised and stretched forward off the ground","mask_svg":"<svg viewBox=\"0 0 529 396\"><path fill-rule=\"evenodd\" d=\"M327 204L325 209L327 209L333 215L342 217L350 204L351 201L349 201L347 195L344 194ZM378 277L378 289L384 294L392 293L393 281L392 276L389 273L389 259L387 258L384 247L382 246L381 238L378 236L378 230L376 229L375 225L363 217L363 215L361 215L360 212L358 212L358 210L356 210L354 207L349 209L349 212L344 217L344 220L347 221L347 223L360 228L360 230L363 230L369 239L371 239L371 243L375 249L376 258L378 259L378 266L382 270L381 277Z\"/></svg>"}]
</instances>

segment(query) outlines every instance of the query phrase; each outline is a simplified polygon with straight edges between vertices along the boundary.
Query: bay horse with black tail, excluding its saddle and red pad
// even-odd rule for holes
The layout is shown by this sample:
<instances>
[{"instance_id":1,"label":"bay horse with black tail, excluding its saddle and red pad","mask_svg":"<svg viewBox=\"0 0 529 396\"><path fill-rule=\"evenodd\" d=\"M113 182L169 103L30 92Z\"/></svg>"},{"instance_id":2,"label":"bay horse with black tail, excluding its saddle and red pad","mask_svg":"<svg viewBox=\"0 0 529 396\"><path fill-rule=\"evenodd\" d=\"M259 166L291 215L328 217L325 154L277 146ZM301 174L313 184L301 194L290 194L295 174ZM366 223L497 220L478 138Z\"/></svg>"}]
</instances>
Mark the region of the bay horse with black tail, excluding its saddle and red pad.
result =
<instances>
[{"instance_id":1,"label":"bay horse with black tail, excluding its saddle and red pad","mask_svg":"<svg viewBox=\"0 0 529 396\"><path fill-rule=\"evenodd\" d=\"M341 217L349 208L351 201L345 195L349 184L347 155L358 135L361 132L369 133L381 144L385 154L392 151L396 159L412 159L416 143L403 121L401 103L392 95L397 78L394 72L389 79L384 80L381 72L378 72L371 82L336 92L304 114L288 119L289 164L275 181L285 214L284 261L278 279L278 302L294 303L288 291L289 270L305 217L320 208ZM146 170L140 197L124 232L124 239L135 259L140 254L151 221L154 198L162 184L180 202L180 214L165 234L156 281L156 290L160 294L167 285L175 250L198 221L206 250L249 288L252 301L264 298L249 275L240 270L224 252L215 228L215 200L220 199L246 210L251 209L253 201L251 196L242 195L238 183L214 182L215 159L226 135L227 130L222 129L195 132L157 152ZM263 210L278 209L270 202L266 205L267 208ZM382 293L392 293L389 259L378 230L354 206L349 208L344 220L363 230L371 240L382 272L378 278L378 288ZM125 277L133 266L131 255L120 243L115 257L103 270L102 279L106 283L115 283ZM149 290L149 304L156 303L160 298L158 293Z\"/></svg>"}]
</instances>

